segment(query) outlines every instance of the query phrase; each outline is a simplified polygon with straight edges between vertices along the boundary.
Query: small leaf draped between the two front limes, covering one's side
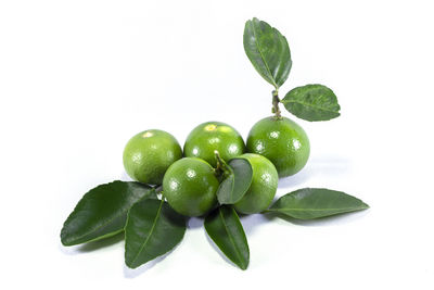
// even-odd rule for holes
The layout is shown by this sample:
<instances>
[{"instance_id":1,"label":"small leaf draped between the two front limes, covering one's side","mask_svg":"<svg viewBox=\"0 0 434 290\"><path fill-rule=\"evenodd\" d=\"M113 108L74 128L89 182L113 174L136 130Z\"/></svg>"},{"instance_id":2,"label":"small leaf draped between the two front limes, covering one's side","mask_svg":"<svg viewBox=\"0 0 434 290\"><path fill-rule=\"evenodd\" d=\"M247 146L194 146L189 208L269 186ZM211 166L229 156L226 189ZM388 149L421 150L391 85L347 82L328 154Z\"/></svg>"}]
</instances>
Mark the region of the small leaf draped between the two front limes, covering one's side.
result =
<instances>
[{"instance_id":1,"label":"small leaf draped between the two front limes, covering one's side","mask_svg":"<svg viewBox=\"0 0 434 290\"><path fill-rule=\"evenodd\" d=\"M245 159L232 159L229 162L231 173L224 179L217 190L220 204L233 204L241 200L252 185L253 169Z\"/></svg>"}]
</instances>

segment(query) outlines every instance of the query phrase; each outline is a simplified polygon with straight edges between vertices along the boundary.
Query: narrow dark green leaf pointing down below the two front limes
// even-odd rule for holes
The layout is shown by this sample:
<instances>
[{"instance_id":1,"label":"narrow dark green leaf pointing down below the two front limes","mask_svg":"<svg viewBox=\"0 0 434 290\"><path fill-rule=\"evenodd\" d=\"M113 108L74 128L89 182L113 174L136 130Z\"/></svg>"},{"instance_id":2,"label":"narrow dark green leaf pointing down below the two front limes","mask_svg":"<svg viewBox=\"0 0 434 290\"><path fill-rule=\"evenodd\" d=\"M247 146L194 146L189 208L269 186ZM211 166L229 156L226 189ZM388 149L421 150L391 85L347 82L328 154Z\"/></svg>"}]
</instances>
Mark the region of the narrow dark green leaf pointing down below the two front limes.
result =
<instances>
[{"instance_id":1,"label":"narrow dark green leaf pointing down below the two front limes","mask_svg":"<svg viewBox=\"0 0 434 290\"><path fill-rule=\"evenodd\" d=\"M205 229L230 261L242 269L247 268L250 259L247 239L235 210L229 205L216 209L205 217Z\"/></svg>"}]
</instances>

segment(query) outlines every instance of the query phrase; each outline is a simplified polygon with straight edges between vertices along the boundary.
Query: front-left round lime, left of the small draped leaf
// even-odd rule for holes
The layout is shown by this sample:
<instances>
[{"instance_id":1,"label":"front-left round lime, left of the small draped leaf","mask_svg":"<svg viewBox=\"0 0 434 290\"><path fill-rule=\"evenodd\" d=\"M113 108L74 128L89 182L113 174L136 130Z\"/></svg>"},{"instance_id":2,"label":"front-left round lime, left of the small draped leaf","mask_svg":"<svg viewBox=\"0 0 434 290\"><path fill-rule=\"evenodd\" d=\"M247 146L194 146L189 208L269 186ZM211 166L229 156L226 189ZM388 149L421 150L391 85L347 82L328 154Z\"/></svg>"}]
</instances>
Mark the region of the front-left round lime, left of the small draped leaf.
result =
<instances>
[{"instance_id":1,"label":"front-left round lime, left of the small draped leaf","mask_svg":"<svg viewBox=\"0 0 434 290\"><path fill-rule=\"evenodd\" d=\"M206 161L183 157L164 175L163 194L176 212L201 216L217 205L218 186L214 168Z\"/></svg>"}]
</instances>

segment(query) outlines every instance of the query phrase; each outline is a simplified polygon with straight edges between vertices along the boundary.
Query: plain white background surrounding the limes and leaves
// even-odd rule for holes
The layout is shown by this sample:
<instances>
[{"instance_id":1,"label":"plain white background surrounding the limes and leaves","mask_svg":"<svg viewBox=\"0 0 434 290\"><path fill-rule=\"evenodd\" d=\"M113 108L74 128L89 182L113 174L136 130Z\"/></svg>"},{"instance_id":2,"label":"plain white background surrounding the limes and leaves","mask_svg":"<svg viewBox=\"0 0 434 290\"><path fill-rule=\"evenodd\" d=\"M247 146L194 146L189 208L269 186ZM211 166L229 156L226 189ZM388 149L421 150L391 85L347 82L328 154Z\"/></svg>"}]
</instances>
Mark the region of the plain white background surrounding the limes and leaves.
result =
<instances>
[{"instance_id":1,"label":"plain white background surrounding the limes and leaves","mask_svg":"<svg viewBox=\"0 0 434 290\"><path fill-rule=\"evenodd\" d=\"M433 289L432 1L0 2L2 289ZM270 114L244 54L257 16L288 37L282 93L321 83L342 116L297 119L306 167L281 179L371 205L317 222L243 218L251 264L225 261L192 219L182 243L136 270L124 241L63 248L60 230L92 187L126 179L122 152L159 128L182 144L206 121L246 137ZM289 113L284 113L290 116Z\"/></svg>"}]
</instances>

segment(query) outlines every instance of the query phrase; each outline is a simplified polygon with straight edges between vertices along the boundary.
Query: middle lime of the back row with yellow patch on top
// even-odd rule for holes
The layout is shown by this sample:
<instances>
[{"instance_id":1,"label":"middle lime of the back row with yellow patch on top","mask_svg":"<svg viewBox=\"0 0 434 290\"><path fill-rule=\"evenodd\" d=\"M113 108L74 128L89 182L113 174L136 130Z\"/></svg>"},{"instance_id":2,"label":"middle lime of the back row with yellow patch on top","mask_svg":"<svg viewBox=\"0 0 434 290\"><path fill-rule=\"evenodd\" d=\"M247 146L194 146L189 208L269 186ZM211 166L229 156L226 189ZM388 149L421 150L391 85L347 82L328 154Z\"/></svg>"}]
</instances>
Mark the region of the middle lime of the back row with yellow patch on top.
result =
<instances>
[{"instance_id":1,"label":"middle lime of the back row with yellow patch on top","mask_svg":"<svg viewBox=\"0 0 434 290\"><path fill-rule=\"evenodd\" d=\"M187 157L200 157L216 166L215 151L229 161L245 152L241 135L228 124L206 122L195 127L187 137L183 154Z\"/></svg>"}]
</instances>

